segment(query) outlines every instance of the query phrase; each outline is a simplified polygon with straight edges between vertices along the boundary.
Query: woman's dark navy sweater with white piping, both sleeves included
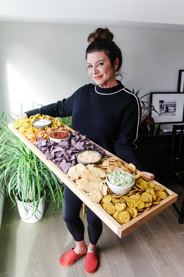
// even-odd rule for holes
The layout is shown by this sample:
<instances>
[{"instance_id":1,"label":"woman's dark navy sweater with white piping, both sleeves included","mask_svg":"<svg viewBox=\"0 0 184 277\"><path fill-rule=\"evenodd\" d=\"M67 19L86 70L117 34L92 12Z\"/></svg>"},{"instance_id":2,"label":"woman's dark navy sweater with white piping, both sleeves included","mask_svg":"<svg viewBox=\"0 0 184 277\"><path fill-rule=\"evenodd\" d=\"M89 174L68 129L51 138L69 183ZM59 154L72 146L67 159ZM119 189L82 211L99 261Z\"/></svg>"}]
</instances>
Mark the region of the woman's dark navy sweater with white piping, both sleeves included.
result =
<instances>
[{"instance_id":1,"label":"woman's dark navy sweater with white piping, both sleeves included","mask_svg":"<svg viewBox=\"0 0 184 277\"><path fill-rule=\"evenodd\" d=\"M141 118L139 99L120 81L112 88L95 84L80 87L69 98L39 109L26 111L29 116L72 115L72 128L142 171L134 149Z\"/></svg>"}]
</instances>

